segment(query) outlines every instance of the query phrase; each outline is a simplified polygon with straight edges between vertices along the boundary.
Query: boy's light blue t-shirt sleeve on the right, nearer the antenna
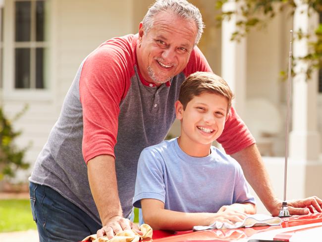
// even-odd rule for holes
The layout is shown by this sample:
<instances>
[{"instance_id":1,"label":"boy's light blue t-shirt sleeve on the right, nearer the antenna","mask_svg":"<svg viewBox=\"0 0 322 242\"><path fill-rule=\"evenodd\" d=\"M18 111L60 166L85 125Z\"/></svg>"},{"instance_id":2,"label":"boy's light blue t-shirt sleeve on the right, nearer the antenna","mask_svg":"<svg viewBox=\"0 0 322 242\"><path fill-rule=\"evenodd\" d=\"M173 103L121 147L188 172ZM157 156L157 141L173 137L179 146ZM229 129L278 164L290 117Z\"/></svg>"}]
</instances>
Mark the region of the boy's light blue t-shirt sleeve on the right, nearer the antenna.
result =
<instances>
[{"instance_id":1,"label":"boy's light blue t-shirt sleeve on the right, nearer the antenna","mask_svg":"<svg viewBox=\"0 0 322 242\"><path fill-rule=\"evenodd\" d=\"M254 196L250 193L250 188L246 182L243 170L239 164L236 164L233 203L246 202L256 204Z\"/></svg>"}]
</instances>

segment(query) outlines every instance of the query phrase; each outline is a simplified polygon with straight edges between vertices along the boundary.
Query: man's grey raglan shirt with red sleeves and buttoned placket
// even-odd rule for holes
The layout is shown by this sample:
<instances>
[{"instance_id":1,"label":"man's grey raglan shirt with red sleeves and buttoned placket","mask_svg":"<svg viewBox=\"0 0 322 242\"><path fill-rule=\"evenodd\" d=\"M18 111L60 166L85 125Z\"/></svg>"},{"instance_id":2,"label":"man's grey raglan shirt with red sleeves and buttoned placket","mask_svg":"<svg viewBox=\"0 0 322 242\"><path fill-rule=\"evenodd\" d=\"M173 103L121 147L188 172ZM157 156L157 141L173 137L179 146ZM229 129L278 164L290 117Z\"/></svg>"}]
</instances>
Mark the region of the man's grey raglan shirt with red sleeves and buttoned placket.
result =
<instances>
[{"instance_id":1,"label":"man's grey raglan shirt with red sleeves and buttoned placket","mask_svg":"<svg viewBox=\"0 0 322 242\"><path fill-rule=\"evenodd\" d=\"M118 193L127 217L141 151L160 143L167 134L175 120L174 103L185 77L211 71L195 47L186 68L157 87L140 74L137 40L137 34L110 39L83 60L29 178L58 191L99 224L87 162L98 155L115 157ZM217 139L227 154L255 143L233 108L229 114Z\"/></svg>"}]
</instances>

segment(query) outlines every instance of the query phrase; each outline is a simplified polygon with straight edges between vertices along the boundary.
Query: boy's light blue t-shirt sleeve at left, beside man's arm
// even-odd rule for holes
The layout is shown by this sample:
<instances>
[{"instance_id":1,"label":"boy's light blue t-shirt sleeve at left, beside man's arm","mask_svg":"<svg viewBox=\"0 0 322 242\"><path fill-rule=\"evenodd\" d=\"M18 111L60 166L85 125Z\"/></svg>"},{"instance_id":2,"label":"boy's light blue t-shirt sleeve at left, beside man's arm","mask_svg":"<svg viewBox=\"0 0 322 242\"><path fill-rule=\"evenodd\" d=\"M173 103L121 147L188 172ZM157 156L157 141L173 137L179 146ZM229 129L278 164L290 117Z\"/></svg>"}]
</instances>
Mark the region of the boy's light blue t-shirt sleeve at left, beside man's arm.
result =
<instances>
[{"instance_id":1,"label":"boy's light blue t-shirt sleeve at left, beside man's arm","mask_svg":"<svg viewBox=\"0 0 322 242\"><path fill-rule=\"evenodd\" d=\"M141 208L141 199L152 198L165 202L163 166L159 153L151 149L141 152L135 182L133 206Z\"/></svg>"}]
</instances>

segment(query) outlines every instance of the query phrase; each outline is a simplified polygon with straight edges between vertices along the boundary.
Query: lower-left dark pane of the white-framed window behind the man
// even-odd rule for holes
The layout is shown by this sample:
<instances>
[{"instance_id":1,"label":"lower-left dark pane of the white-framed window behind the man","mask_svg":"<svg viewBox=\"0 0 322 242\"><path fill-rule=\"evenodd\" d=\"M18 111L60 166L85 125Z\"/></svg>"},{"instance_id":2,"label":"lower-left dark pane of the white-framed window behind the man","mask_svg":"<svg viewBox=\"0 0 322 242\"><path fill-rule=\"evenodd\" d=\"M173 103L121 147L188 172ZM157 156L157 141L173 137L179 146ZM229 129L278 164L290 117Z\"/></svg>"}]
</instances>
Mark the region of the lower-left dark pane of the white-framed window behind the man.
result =
<instances>
[{"instance_id":1,"label":"lower-left dark pane of the white-framed window behind the man","mask_svg":"<svg viewBox=\"0 0 322 242\"><path fill-rule=\"evenodd\" d=\"M30 49L15 49L15 88L30 88Z\"/></svg>"}]
</instances>

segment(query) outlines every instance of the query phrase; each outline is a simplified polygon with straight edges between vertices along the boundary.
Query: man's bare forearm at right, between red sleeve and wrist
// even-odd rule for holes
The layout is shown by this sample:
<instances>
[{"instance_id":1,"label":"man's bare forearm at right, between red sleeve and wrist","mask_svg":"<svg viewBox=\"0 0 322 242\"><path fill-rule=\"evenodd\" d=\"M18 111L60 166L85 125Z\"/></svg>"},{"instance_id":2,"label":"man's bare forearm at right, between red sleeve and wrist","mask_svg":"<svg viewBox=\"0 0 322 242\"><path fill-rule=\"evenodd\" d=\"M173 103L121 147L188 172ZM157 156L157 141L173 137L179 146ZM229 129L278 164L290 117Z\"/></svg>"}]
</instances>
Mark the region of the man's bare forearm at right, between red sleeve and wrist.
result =
<instances>
[{"instance_id":1,"label":"man's bare forearm at right, between red sleeve and wrist","mask_svg":"<svg viewBox=\"0 0 322 242\"><path fill-rule=\"evenodd\" d=\"M268 211L273 213L276 210L277 200L257 146L253 144L231 156L241 165L247 181Z\"/></svg>"}]
</instances>

